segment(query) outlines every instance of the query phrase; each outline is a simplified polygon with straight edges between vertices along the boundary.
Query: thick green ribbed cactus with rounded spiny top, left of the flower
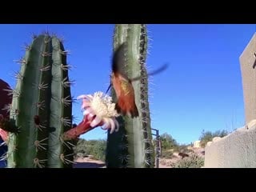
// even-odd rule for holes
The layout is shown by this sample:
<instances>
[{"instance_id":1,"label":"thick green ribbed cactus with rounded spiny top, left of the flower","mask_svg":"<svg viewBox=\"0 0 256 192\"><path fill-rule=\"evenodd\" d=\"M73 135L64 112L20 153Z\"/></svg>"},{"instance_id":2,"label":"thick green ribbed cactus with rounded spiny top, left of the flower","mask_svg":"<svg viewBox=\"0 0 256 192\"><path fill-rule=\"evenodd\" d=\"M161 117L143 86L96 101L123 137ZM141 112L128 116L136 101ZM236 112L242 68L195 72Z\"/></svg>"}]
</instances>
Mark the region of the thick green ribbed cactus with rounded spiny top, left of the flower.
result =
<instances>
[{"instance_id":1,"label":"thick green ribbed cactus with rounded spiny top, left of the flower","mask_svg":"<svg viewBox=\"0 0 256 192\"><path fill-rule=\"evenodd\" d=\"M8 167L72 167L72 143L62 140L72 128L66 54L62 41L48 33L26 46L16 87L9 91L10 120L18 133L9 135Z\"/></svg>"}]
</instances>

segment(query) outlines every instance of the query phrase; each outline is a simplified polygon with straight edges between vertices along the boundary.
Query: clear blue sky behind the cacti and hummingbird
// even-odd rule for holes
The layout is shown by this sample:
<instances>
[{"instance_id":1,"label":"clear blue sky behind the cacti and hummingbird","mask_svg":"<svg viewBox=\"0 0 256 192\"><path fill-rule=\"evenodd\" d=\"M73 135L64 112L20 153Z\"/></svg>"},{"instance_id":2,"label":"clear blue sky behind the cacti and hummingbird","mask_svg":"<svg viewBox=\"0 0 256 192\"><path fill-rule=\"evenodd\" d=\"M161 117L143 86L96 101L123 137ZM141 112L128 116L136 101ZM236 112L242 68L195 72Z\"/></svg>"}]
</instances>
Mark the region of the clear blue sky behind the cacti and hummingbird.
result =
<instances>
[{"instance_id":1,"label":"clear blue sky behind the cacti and hummingbird","mask_svg":"<svg viewBox=\"0 0 256 192\"><path fill-rule=\"evenodd\" d=\"M64 37L70 50L67 61L75 66L71 91L80 94L106 91L110 82L110 59L114 25L3 25L0 24L0 78L15 86L11 74L19 70L15 59L31 34L49 30ZM150 70L165 62L169 68L150 78L151 126L168 133L179 143L198 140L202 130L228 130L244 125L242 77L239 56L256 31L256 25L149 24ZM76 123L82 120L80 102L74 104ZM82 135L106 138L101 128Z\"/></svg>"}]
</instances>

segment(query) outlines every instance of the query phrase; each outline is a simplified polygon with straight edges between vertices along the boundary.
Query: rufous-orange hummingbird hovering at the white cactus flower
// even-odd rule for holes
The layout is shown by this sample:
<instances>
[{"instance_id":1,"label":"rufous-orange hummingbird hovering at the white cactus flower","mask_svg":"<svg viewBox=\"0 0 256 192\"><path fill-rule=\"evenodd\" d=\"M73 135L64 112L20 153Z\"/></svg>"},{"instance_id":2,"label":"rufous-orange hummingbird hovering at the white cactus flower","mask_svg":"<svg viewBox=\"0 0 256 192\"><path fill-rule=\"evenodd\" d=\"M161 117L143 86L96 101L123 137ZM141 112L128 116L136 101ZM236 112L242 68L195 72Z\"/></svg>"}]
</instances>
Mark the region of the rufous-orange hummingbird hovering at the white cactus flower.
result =
<instances>
[{"instance_id":1,"label":"rufous-orange hummingbird hovering at the white cactus flower","mask_svg":"<svg viewBox=\"0 0 256 192\"><path fill-rule=\"evenodd\" d=\"M138 108L135 103L134 86L132 85L132 82L137 81L142 77L128 78L125 71L125 49L126 43L122 43L122 45L118 46L117 50L114 51L110 86L114 87L117 96L115 110L117 110L119 114L130 114L131 118L136 118L138 117ZM157 74L165 69L166 65L148 75ZM106 93L110 90L110 86L106 90Z\"/></svg>"}]
</instances>

